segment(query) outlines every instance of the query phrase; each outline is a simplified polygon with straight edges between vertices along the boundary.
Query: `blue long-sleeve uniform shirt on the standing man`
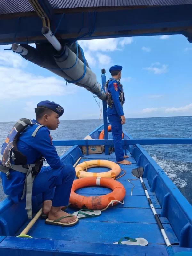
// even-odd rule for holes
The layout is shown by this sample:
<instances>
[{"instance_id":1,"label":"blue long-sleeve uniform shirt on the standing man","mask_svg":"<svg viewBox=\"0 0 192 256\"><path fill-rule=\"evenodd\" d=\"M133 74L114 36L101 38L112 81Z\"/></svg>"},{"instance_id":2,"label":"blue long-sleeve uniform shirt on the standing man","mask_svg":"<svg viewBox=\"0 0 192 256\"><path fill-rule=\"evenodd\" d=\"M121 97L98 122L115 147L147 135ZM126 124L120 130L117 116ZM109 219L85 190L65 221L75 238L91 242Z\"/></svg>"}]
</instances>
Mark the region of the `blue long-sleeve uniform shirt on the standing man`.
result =
<instances>
[{"instance_id":1,"label":"blue long-sleeve uniform shirt on the standing man","mask_svg":"<svg viewBox=\"0 0 192 256\"><path fill-rule=\"evenodd\" d=\"M123 108L122 108L120 100L119 100L119 95L121 93L120 82L117 80L113 80L112 78L110 78L110 79L111 80L109 80L109 82L108 82L107 89L108 89L108 92L111 93L114 104L112 104L112 109L108 106L107 114L123 116L124 115Z\"/></svg>"}]
</instances>

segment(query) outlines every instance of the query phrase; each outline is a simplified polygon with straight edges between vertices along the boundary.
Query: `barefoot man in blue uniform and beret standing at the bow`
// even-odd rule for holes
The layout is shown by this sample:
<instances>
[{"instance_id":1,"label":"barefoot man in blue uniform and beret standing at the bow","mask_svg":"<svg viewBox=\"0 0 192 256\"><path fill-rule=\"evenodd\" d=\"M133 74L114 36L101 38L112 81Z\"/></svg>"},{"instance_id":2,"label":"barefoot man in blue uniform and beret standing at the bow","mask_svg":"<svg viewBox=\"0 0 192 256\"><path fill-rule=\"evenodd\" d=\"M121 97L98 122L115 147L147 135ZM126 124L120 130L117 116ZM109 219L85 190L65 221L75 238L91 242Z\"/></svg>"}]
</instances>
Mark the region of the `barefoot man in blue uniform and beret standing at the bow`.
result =
<instances>
[{"instance_id":1,"label":"barefoot man in blue uniform and beret standing at the bow","mask_svg":"<svg viewBox=\"0 0 192 256\"><path fill-rule=\"evenodd\" d=\"M109 69L111 78L106 83L106 93L108 96L107 104L107 116L111 124L111 130L113 134L115 156L118 164L131 164L131 162L125 160L129 156L124 156L122 149L122 125L125 124L125 116L123 112L124 104L124 92L123 86L120 84L122 66L112 66Z\"/></svg>"}]
</instances>

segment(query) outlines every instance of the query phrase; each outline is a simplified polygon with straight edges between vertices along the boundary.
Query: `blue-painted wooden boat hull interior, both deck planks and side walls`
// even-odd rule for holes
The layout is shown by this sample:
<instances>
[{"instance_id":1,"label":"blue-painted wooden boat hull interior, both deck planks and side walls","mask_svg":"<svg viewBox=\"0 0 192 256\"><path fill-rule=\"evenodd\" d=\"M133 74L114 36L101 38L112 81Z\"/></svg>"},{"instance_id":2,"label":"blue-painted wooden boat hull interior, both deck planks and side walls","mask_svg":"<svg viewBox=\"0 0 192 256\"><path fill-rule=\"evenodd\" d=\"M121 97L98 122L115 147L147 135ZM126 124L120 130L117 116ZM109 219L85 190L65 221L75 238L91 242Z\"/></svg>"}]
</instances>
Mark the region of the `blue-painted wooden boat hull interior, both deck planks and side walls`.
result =
<instances>
[{"instance_id":1,"label":"blue-painted wooden boat hull interior, both deck planks and side walls","mask_svg":"<svg viewBox=\"0 0 192 256\"><path fill-rule=\"evenodd\" d=\"M97 139L102 129L103 125L89 135ZM124 132L124 138L132 139L126 132ZM102 144L102 141L100 143ZM129 255L145 255L145 253L146 255L154 255L154 253L168 255L139 180L132 181L135 188L133 195L130 195L132 185L127 179L132 177L131 170L136 166L144 167L143 180L173 244L174 252L192 251L192 206L140 145L127 146L127 155L130 156L132 165L121 165L126 170L126 175L119 179L126 188L124 206L118 204L94 220L81 220L69 230L45 225L44 220L39 219L28 232L34 237L33 239L16 238L15 236L30 221L27 219L25 204L14 204L9 197L2 201L0 203L0 252L3 254L1 255L26 255L26 253L34 255L35 253L35 255L42 256L46 253L49 256L66 253L67 255L115 256L127 255L127 251L129 251ZM81 146L78 145L73 146L62 155L61 160L66 164L74 164L81 156L80 162L99 158L115 162L114 153L110 156L105 156L104 153L86 156L82 155ZM89 169L89 172L93 171L92 168ZM97 172L99 171L102 172L103 169L97 168ZM77 191L86 196L107 194L108 192L109 189L101 187L83 188ZM41 195L33 198L34 211L38 211L40 204ZM68 208L68 212L74 211L74 209ZM112 244L125 235L145 237L149 245L147 247L129 246L127 250L127 247Z\"/></svg>"}]
</instances>

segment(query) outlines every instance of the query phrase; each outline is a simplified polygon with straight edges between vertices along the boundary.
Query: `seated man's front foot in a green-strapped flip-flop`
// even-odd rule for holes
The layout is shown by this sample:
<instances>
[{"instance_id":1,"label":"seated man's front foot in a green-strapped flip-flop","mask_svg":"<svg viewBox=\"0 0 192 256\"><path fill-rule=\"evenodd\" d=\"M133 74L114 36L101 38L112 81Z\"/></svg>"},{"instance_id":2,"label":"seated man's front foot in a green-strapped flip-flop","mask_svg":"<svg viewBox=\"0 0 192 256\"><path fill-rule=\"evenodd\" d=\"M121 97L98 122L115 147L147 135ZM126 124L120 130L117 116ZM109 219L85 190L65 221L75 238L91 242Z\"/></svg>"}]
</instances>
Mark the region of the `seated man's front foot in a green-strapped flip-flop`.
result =
<instances>
[{"instance_id":1,"label":"seated man's front foot in a green-strapped flip-flop","mask_svg":"<svg viewBox=\"0 0 192 256\"><path fill-rule=\"evenodd\" d=\"M67 212L63 212L60 207L51 207L51 211L48 214L49 220L57 220L63 216L70 216ZM77 216L73 215L73 217L68 217L65 219L60 220L62 223L73 223L76 221Z\"/></svg>"}]
</instances>

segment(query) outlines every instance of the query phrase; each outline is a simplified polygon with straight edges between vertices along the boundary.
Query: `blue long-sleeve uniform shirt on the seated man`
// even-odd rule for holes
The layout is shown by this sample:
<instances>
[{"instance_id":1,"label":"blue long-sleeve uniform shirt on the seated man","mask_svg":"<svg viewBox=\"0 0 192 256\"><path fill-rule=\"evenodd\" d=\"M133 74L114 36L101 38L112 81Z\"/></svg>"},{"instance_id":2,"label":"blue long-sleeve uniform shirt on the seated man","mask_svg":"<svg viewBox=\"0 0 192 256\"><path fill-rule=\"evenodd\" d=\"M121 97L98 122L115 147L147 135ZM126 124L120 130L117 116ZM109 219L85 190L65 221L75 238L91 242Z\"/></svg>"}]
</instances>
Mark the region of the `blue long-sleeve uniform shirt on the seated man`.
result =
<instances>
[{"instance_id":1,"label":"blue long-sleeve uniform shirt on the seated man","mask_svg":"<svg viewBox=\"0 0 192 256\"><path fill-rule=\"evenodd\" d=\"M36 120L33 121L38 123ZM17 142L18 150L27 157L27 164L34 163L38 157L43 155L51 168L57 169L63 166L63 162L52 145L52 139L47 127L41 127L36 136L32 137L32 133L37 127L38 125L28 126L20 134ZM4 193L11 196L15 202L18 202L18 194L23 191L26 174L11 170L10 176L10 180L7 180L6 174L1 172Z\"/></svg>"}]
</instances>

